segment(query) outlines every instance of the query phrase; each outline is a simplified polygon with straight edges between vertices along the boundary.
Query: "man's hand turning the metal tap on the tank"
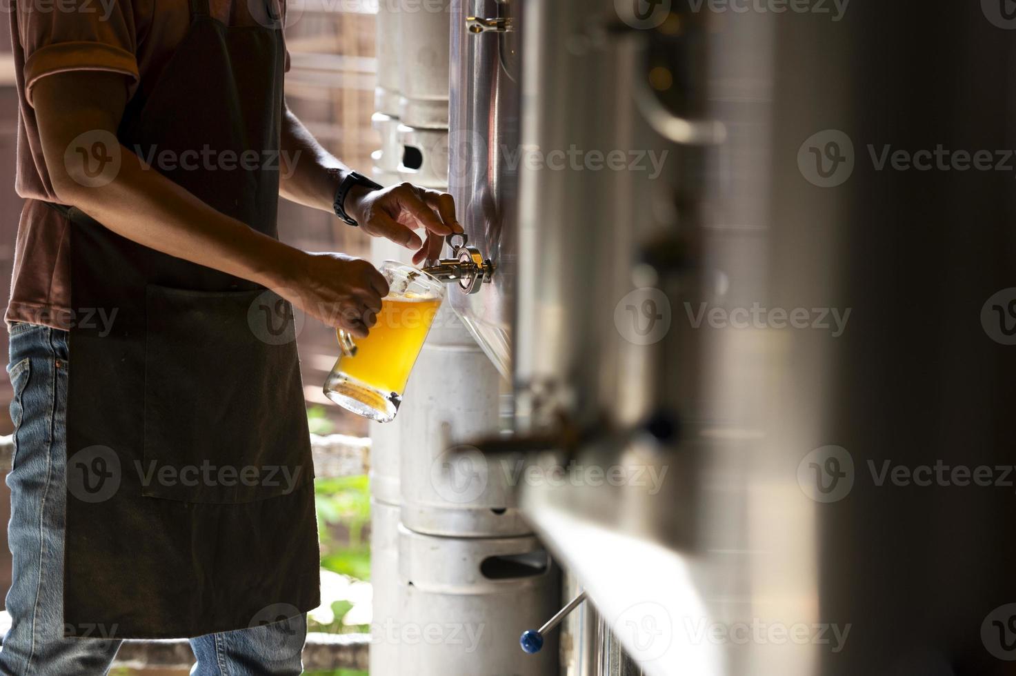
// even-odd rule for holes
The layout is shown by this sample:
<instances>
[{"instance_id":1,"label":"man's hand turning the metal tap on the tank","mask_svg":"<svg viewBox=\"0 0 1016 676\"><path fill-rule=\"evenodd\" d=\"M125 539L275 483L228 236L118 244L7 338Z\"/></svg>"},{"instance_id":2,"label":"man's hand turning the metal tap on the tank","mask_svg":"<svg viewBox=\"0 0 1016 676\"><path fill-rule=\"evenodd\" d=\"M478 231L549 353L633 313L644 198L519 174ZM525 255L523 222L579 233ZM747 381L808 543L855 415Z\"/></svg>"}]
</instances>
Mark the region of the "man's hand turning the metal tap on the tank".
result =
<instances>
[{"instance_id":1,"label":"man's hand turning the metal tap on the tank","mask_svg":"<svg viewBox=\"0 0 1016 676\"><path fill-rule=\"evenodd\" d=\"M412 254L415 265L438 258L445 237L462 232L451 195L411 183L383 190L355 186L345 197L345 211L368 235L417 249ZM426 244L412 232L419 228L427 231Z\"/></svg>"}]
</instances>

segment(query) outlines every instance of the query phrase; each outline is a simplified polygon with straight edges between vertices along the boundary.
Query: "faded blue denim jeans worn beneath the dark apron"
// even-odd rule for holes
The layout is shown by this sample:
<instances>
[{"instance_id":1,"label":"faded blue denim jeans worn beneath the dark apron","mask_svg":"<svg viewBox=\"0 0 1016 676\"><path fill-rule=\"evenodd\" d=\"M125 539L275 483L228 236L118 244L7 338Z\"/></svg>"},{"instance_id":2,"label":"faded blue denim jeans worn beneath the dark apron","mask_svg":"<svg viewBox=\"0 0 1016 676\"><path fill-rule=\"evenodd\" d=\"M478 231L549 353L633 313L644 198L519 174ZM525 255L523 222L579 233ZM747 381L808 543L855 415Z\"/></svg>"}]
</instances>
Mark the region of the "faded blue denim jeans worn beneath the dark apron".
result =
<instances>
[{"instance_id":1,"label":"faded blue denim jeans worn beneath the dark apron","mask_svg":"<svg viewBox=\"0 0 1016 676\"><path fill-rule=\"evenodd\" d=\"M105 674L119 639L63 637L63 544L67 506L67 331L14 324L7 367L14 398L8 544L12 624L0 649L4 676ZM306 615L191 638L195 676L289 676L303 672Z\"/></svg>"}]
</instances>

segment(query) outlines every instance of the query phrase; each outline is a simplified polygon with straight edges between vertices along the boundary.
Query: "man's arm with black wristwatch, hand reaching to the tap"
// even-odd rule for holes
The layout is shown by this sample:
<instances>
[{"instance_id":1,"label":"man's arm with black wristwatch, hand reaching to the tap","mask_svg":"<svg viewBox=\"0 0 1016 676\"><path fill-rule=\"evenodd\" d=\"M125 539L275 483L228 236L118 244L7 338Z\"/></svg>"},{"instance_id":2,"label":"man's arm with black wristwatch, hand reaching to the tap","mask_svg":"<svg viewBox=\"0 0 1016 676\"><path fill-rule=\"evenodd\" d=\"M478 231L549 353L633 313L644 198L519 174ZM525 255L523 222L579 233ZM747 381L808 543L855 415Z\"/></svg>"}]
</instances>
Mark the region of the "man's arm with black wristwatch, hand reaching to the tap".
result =
<instances>
[{"instance_id":1,"label":"man's arm with black wristwatch, hand reaching to the tap","mask_svg":"<svg viewBox=\"0 0 1016 676\"><path fill-rule=\"evenodd\" d=\"M321 147L307 127L283 104L282 167L279 193L291 201L332 211L335 190L348 168ZM417 249L412 262L420 264L441 254L444 238L462 232L455 218L451 195L409 183L372 191L356 187L345 198L345 210L365 233L384 237ZM414 230L427 231L426 245Z\"/></svg>"}]
</instances>

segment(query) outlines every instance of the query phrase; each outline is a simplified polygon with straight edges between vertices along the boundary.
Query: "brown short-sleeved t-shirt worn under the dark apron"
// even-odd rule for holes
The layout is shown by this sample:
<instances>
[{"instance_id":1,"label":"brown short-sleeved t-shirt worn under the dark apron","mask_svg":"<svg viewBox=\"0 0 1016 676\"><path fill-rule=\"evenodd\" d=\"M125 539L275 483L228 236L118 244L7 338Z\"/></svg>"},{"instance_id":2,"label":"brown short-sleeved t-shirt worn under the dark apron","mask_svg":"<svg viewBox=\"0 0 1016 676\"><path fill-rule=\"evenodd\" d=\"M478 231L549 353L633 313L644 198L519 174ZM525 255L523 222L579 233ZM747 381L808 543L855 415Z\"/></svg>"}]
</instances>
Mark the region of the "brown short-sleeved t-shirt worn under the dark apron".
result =
<instances>
[{"instance_id":1,"label":"brown short-sleeved t-shirt worn under the dark apron","mask_svg":"<svg viewBox=\"0 0 1016 676\"><path fill-rule=\"evenodd\" d=\"M284 12L285 0L269 1L276 3L274 11ZM260 7L254 0L209 0L209 5L211 15L228 25L267 20L266 15L252 16L251 8ZM69 224L42 201L56 197L31 107L31 88L53 73L106 70L122 73L128 97L134 96L154 83L187 34L190 6L187 0L15 0L10 22L20 95L15 189L25 202L6 320L69 328L74 320Z\"/></svg>"}]
</instances>

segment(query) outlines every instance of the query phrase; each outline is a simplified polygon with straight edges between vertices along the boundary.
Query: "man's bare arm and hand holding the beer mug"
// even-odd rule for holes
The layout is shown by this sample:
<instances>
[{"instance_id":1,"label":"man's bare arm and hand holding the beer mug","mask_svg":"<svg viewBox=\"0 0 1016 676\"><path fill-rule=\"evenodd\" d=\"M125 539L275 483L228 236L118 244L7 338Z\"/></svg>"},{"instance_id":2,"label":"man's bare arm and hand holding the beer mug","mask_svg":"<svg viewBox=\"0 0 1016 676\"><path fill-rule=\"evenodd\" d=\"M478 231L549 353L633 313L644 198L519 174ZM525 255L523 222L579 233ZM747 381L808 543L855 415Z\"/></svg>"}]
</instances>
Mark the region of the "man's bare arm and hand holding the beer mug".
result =
<instances>
[{"instance_id":1,"label":"man's bare arm and hand holding the beer mug","mask_svg":"<svg viewBox=\"0 0 1016 676\"><path fill-rule=\"evenodd\" d=\"M126 105L123 76L105 71L56 73L34 88L46 167L57 199L78 207L113 232L163 253L275 289L325 323L364 336L372 311L387 294L384 278L367 261L342 254L311 254L231 219L145 166L116 144L121 167L106 185L88 187L88 147L81 134L115 140ZM238 169L237 171L241 171Z\"/></svg>"}]
</instances>

